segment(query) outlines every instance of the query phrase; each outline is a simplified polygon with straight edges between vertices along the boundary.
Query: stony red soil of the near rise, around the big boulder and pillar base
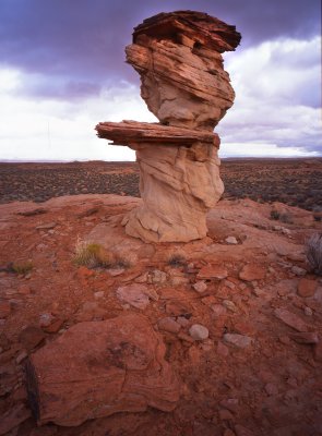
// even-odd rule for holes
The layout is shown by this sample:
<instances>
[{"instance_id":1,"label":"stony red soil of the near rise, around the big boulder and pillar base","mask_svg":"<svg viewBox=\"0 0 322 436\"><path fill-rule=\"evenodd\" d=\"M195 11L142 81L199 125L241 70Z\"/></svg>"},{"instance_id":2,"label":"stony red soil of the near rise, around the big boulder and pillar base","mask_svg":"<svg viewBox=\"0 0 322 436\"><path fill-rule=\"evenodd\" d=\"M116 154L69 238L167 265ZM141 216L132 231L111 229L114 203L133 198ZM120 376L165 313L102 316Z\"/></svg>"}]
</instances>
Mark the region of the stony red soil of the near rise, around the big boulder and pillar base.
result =
<instances>
[{"instance_id":1,"label":"stony red soil of the near rise, around the big boulder and pillar base","mask_svg":"<svg viewBox=\"0 0 322 436\"><path fill-rule=\"evenodd\" d=\"M132 165L127 170L135 175ZM127 237L120 225L138 202L82 194L0 206L0 434L321 435L322 281L307 262L305 242L321 232L322 223L310 211L283 204L224 199L208 214L204 240L146 246ZM273 207L287 222L272 219ZM227 237L237 243L227 243ZM130 267L116 274L75 266L77 241L95 238L106 250L128 256ZM182 264L169 264L174 253ZM28 259L31 271L12 270L12 263ZM261 274L246 277L246 265ZM215 277L212 268L218 267L226 278ZM166 274L166 282L148 279L155 270ZM205 276L200 293L193 284ZM311 286L305 291L303 278ZM158 295L144 310L122 304L116 292L138 281ZM182 303L189 316L179 319ZM296 317L293 326L278 317L281 310ZM28 355L77 323L129 312L144 314L163 335L166 359L180 379L176 409L119 413L79 427L37 427L25 390ZM165 317L182 324L179 334L158 327ZM193 324L205 326L208 338L191 340ZM302 324L305 332L299 331ZM249 343L236 347L226 334L250 338Z\"/></svg>"}]
</instances>

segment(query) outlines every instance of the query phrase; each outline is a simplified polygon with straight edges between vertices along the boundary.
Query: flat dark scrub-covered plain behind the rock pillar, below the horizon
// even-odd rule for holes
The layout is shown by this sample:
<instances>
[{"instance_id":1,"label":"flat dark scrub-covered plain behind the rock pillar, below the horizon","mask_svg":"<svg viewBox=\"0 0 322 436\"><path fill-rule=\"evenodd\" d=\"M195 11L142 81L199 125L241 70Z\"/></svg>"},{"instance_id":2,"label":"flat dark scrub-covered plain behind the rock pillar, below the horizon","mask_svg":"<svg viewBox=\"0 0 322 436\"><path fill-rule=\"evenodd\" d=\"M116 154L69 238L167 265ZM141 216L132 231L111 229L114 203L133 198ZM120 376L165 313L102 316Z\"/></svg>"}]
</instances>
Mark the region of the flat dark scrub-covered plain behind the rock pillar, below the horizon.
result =
<instances>
[{"instance_id":1,"label":"flat dark scrub-covered plain behind the rock pillar, below the horizon","mask_svg":"<svg viewBox=\"0 0 322 436\"><path fill-rule=\"evenodd\" d=\"M322 208L322 159L223 159L224 198ZM140 196L135 162L0 164L0 203L61 195Z\"/></svg>"}]
</instances>

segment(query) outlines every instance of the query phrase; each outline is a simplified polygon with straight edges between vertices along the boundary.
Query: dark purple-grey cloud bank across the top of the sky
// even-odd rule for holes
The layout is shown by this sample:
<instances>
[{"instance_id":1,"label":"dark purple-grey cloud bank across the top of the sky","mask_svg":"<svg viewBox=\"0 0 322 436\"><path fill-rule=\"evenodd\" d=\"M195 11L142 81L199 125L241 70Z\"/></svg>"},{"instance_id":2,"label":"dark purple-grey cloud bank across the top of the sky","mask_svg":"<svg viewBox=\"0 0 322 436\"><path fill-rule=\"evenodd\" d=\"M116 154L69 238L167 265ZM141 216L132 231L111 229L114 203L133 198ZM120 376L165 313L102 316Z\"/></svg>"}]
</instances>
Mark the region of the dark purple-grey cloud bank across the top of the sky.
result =
<instances>
[{"instance_id":1,"label":"dark purple-grey cloud bank across the top of the sky","mask_svg":"<svg viewBox=\"0 0 322 436\"><path fill-rule=\"evenodd\" d=\"M320 34L320 0L1 0L0 64L46 75L46 86L29 87L35 95L61 94L50 77L65 82L60 90L68 88L69 97L96 94L108 81L138 83L123 52L133 26L178 9L235 24L243 47ZM74 93L71 83L79 84Z\"/></svg>"}]
</instances>

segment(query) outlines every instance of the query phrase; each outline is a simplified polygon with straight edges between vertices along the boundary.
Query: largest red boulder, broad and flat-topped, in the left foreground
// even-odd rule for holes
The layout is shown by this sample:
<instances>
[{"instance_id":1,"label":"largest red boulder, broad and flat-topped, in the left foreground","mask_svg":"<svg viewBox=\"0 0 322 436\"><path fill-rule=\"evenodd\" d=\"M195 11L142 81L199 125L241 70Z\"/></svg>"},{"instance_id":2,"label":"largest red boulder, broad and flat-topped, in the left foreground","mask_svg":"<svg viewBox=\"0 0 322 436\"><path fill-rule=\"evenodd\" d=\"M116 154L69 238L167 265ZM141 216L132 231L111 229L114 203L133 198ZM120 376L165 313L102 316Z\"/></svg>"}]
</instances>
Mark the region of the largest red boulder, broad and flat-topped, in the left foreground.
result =
<instances>
[{"instance_id":1,"label":"largest red boulder, broad and flat-topped, in the left foreground","mask_svg":"<svg viewBox=\"0 0 322 436\"><path fill-rule=\"evenodd\" d=\"M179 382L165 346L141 315L80 323L29 358L31 407L38 424L76 426L117 412L171 411Z\"/></svg>"}]
</instances>

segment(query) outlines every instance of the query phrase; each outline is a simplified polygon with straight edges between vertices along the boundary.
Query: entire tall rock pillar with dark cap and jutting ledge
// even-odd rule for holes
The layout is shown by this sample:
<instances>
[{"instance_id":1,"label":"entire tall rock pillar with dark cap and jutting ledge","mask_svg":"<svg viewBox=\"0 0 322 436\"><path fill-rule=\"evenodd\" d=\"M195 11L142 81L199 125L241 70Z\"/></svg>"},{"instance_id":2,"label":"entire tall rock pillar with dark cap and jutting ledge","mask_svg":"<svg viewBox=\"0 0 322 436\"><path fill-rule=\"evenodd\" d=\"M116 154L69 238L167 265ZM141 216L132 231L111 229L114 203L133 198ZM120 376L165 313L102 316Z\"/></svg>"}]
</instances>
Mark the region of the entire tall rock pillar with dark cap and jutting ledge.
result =
<instances>
[{"instance_id":1,"label":"entire tall rock pillar with dark cap and jutting ledge","mask_svg":"<svg viewBox=\"0 0 322 436\"><path fill-rule=\"evenodd\" d=\"M136 152L143 203L124 219L128 234L148 242L206 235L206 211L224 191L213 130L235 97L222 53L239 41L235 26L201 12L160 13L134 28L127 61L160 123L96 126L99 137Z\"/></svg>"}]
</instances>

